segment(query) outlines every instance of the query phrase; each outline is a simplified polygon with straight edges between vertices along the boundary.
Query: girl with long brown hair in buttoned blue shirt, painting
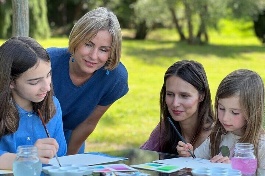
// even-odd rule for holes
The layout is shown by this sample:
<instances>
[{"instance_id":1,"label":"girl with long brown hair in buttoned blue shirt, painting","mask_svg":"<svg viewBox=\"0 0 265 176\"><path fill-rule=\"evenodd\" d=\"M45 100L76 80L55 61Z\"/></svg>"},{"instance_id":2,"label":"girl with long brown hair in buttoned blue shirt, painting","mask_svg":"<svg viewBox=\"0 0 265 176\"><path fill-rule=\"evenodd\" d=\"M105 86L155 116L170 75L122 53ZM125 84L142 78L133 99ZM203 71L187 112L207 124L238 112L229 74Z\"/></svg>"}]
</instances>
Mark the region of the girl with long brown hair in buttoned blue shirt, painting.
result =
<instances>
[{"instance_id":1,"label":"girl with long brown hair in buttoned blue shirt, painting","mask_svg":"<svg viewBox=\"0 0 265 176\"><path fill-rule=\"evenodd\" d=\"M0 82L0 169L12 169L19 145L37 146L44 164L55 153L65 155L62 112L53 97L46 50L30 37L10 38L0 47ZM38 109L51 138L47 138Z\"/></svg>"}]
</instances>

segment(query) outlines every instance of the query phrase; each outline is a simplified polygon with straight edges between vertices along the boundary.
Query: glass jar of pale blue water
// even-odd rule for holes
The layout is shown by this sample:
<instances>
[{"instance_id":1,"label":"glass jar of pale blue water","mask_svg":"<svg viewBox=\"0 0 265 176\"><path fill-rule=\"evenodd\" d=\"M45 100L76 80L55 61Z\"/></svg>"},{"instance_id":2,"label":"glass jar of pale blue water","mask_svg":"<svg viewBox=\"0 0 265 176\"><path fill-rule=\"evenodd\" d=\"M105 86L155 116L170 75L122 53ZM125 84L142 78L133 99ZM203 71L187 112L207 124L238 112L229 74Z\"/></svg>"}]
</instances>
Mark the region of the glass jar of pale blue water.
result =
<instances>
[{"instance_id":1,"label":"glass jar of pale blue water","mask_svg":"<svg viewBox=\"0 0 265 176\"><path fill-rule=\"evenodd\" d=\"M36 146L21 145L17 147L17 158L13 163L14 176L40 176L42 163L38 158Z\"/></svg>"}]
</instances>

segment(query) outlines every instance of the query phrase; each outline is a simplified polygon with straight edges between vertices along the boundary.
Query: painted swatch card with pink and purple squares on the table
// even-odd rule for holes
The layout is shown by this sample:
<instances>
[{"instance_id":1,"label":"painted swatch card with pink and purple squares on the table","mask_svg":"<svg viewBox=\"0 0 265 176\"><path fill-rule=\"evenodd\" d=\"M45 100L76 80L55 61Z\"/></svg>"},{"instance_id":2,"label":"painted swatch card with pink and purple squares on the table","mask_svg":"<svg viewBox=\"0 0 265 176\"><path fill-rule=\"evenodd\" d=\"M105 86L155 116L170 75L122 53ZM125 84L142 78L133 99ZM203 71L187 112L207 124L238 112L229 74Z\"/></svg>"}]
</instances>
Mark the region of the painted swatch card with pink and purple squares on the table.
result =
<instances>
[{"instance_id":1,"label":"painted swatch card with pink and purple squares on the table","mask_svg":"<svg viewBox=\"0 0 265 176\"><path fill-rule=\"evenodd\" d=\"M126 164L104 164L104 165L94 165L94 166L89 166L89 167L92 167L94 169L94 172L139 171L130 166L127 166Z\"/></svg>"}]
</instances>

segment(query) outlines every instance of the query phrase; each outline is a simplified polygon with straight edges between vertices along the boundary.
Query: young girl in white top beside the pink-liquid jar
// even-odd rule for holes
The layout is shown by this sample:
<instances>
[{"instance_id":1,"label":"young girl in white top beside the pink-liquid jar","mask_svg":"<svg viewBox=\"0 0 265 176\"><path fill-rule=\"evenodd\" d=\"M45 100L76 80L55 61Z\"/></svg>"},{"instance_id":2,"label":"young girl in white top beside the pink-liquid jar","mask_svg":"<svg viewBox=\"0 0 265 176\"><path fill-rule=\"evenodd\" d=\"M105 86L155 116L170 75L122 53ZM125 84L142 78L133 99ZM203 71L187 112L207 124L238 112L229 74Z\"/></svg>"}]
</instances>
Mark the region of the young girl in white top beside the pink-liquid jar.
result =
<instances>
[{"instance_id":1,"label":"young girl in white top beside the pink-liquid jar","mask_svg":"<svg viewBox=\"0 0 265 176\"><path fill-rule=\"evenodd\" d=\"M218 120L209 138L194 151L195 156L211 159L211 162L231 163L234 145L251 143L258 168L264 169L263 107L264 84L257 73L239 69L228 74L216 93L215 112ZM187 149L182 143L180 145L181 150Z\"/></svg>"}]
</instances>

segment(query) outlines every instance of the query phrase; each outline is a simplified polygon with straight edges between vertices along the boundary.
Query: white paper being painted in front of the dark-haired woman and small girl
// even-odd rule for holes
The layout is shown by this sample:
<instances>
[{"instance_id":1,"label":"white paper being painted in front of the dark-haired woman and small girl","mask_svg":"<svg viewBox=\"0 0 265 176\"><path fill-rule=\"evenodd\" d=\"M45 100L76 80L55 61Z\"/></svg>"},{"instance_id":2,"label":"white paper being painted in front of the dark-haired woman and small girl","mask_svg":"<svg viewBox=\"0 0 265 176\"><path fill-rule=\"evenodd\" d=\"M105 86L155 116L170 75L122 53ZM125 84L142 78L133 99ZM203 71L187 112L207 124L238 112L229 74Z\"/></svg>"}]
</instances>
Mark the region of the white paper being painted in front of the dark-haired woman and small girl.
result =
<instances>
[{"instance_id":1,"label":"white paper being painted in front of the dark-haired woman and small girl","mask_svg":"<svg viewBox=\"0 0 265 176\"><path fill-rule=\"evenodd\" d=\"M221 168L227 168L231 169L231 164L223 164L223 163L211 163L208 159L200 159L192 157L179 157L179 158L172 158L172 159L163 159L163 160L157 160L153 161L156 163L162 163L162 164L170 164L174 166L184 166L186 168L198 168L198 167L221 167Z\"/></svg>"}]
</instances>

